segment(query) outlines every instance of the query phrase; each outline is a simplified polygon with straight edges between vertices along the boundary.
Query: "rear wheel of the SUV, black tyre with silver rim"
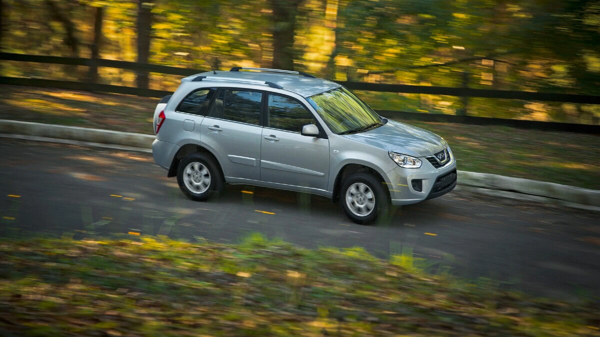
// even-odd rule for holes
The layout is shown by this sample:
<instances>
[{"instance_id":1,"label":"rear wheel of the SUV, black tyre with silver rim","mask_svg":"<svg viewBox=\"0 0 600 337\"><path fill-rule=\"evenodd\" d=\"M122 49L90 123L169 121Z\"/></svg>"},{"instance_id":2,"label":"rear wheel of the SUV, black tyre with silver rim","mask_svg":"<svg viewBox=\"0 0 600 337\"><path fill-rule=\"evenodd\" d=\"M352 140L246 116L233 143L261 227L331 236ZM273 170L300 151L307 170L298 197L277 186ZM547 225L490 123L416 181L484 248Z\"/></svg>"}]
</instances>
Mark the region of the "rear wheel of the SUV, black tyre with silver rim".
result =
<instances>
[{"instance_id":1,"label":"rear wheel of the SUV, black tyre with silver rim","mask_svg":"<svg viewBox=\"0 0 600 337\"><path fill-rule=\"evenodd\" d=\"M206 201L223 189L223 177L211 156L187 155L177 167L179 188L191 200Z\"/></svg>"}]
</instances>

